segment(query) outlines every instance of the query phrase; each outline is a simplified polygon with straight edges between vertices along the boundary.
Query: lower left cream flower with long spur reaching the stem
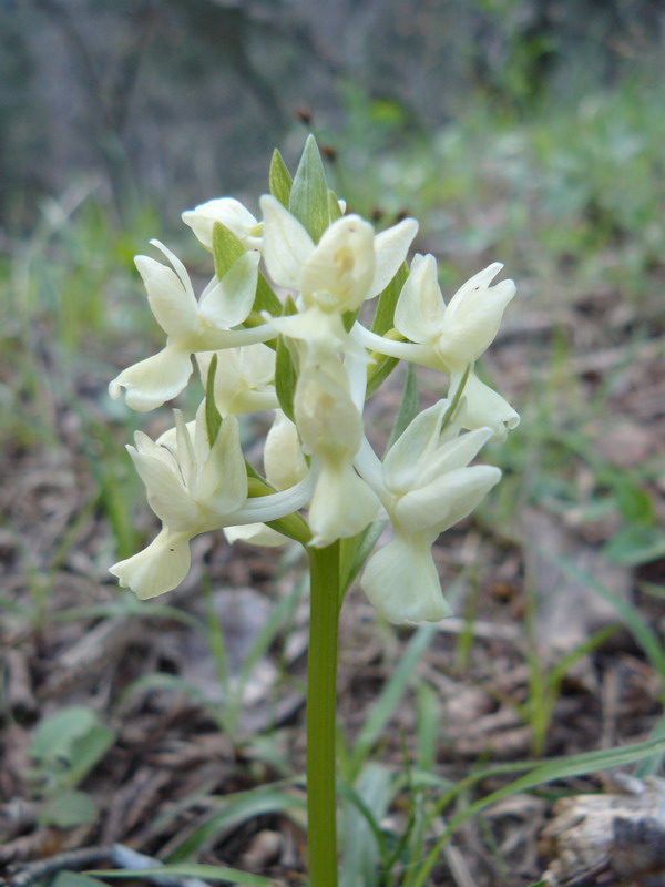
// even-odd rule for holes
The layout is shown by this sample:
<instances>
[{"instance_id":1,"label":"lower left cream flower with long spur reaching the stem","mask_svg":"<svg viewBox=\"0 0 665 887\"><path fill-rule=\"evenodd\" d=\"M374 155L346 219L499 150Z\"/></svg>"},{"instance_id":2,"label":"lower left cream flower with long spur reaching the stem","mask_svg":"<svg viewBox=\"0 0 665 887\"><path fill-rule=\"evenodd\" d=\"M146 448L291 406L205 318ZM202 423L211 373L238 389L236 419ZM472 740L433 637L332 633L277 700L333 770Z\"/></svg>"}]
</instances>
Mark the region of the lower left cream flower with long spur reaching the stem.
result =
<instances>
[{"instance_id":1,"label":"lower left cream flower with long spur reaching the stem","mask_svg":"<svg viewBox=\"0 0 665 887\"><path fill-rule=\"evenodd\" d=\"M311 496L306 477L289 490L248 499L237 419L226 418L211 446L205 401L194 422L185 425L178 410L174 415L175 429L157 442L137 431L136 446L127 447L162 530L147 548L114 564L111 572L142 599L171 591L183 581L195 536L276 520L301 508Z\"/></svg>"}]
</instances>

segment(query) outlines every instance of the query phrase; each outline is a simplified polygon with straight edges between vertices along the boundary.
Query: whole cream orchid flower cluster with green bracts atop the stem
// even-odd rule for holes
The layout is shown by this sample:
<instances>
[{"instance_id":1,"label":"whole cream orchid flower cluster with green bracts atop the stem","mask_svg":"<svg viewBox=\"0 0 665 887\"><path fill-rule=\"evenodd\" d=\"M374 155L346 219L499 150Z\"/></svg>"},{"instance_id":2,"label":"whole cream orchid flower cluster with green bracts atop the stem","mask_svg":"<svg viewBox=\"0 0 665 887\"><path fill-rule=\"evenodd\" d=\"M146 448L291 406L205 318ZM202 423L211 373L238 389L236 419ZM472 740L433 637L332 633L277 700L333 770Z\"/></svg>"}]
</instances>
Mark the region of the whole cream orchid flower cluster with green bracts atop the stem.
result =
<instances>
[{"instance_id":1,"label":"whole cream orchid flower cluster with green bracts atop the stem","mask_svg":"<svg viewBox=\"0 0 665 887\"><path fill-rule=\"evenodd\" d=\"M369 557L360 584L388 619L436 621L449 613L431 547L466 517L501 472L471 466L481 447L519 422L474 374L514 295L492 285L501 265L467 282L448 304L431 255L407 255L415 220L376 234L327 187L309 139L291 180L276 152L262 218L223 197L183 214L213 253L215 275L197 299L182 262L136 257L165 347L110 385L136 410L176 397L197 366L205 397L193 422L129 447L162 521L155 540L112 569L141 598L175 588L190 568L190 540L224 529L231 541L327 547L391 538ZM374 322L361 318L376 299ZM364 309L364 310L361 310ZM195 358L194 361L192 358ZM396 429L381 461L365 435L366 399L397 359L441 370L448 395ZM263 473L241 447L237 416L274 411ZM400 410L403 419L408 410ZM307 510L305 520L301 510Z\"/></svg>"}]
</instances>

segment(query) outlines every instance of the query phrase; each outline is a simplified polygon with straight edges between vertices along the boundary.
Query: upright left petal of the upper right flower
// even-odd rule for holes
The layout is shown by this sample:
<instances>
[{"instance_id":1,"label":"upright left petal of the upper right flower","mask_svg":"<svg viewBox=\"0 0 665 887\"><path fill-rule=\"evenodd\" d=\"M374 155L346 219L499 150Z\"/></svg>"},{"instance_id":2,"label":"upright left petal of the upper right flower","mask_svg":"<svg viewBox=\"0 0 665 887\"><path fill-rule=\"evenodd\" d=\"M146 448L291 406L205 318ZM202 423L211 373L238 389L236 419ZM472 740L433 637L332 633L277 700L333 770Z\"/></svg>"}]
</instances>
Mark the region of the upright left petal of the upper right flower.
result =
<instances>
[{"instance_id":1,"label":"upright left petal of the upper right flower","mask_svg":"<svg viewBox=\"0 0 665 887\"><path fill-rule=\"evenodd\" d=\"M443 322L446 306L432 255L413 256L411 272L395 309L395 326L411 341L433 339Z\"/></svg>"}]
</instances>

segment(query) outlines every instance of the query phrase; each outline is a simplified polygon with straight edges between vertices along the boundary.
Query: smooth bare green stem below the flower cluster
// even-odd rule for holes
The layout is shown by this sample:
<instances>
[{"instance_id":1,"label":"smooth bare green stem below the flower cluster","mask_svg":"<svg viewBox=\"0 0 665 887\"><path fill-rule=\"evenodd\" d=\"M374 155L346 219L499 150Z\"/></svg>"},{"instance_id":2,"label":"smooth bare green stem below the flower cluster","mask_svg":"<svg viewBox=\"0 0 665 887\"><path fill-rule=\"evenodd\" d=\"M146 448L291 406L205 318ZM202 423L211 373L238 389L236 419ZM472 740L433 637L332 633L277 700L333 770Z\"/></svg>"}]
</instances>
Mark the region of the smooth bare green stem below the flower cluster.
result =
<instances>
[{"instance_id":1,"label":"smooth bare green stem below the flower cluster","mask_svg":"<svg viewBox=\"0 0 665 887\"><path fill-rule=\"evenodd\" d=\"M308 549L307 832L311 887L337 887L335 716L339 542Z\"/></svg>"}]
</instances>

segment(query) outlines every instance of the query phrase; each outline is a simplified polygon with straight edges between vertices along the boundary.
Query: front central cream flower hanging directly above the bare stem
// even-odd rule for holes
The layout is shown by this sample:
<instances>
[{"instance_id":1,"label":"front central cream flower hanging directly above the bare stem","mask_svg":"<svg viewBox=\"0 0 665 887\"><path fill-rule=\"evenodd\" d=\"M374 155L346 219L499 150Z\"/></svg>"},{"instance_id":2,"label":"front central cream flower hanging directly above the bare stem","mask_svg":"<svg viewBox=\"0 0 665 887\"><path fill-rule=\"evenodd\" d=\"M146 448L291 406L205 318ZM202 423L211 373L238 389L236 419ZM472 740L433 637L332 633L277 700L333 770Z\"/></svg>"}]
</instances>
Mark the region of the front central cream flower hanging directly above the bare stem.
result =
<instances>
[{"instance_id":1,"label":"front central cream flower hanging directly above the bare stem","mask_svg":"<svg viewBox=\"0 0 665 887\"><path fill-rule=\"evenodd\" d=\"M294 410L303 451L318 469L309 506L310 544L324 548L359 533L379 510L376 495L354 470L362 418L339 360L308 367L298 379Z\"/></svg>"}]
</instances>

